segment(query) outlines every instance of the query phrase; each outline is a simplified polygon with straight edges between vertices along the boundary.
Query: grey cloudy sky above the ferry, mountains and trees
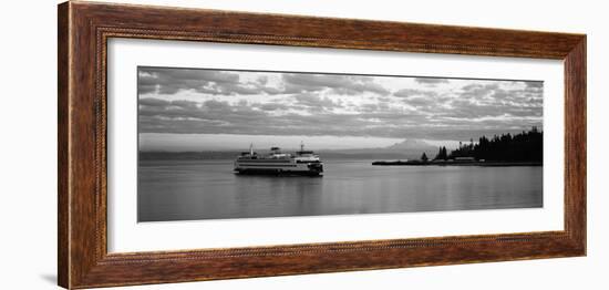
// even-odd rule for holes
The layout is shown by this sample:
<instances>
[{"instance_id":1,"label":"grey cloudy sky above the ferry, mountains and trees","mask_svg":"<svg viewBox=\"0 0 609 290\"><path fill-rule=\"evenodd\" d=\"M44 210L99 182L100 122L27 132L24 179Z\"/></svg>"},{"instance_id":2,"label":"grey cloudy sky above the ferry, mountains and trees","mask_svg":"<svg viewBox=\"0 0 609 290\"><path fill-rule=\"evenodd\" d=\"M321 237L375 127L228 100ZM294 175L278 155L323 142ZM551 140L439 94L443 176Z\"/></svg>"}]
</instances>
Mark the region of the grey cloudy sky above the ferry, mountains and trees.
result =
<instances>
[{"instance_id":1,"label":"grey cloudy sky above the ferry, mountains and trees","mask_svg":"<svg viewBox=\"0 0 609 290\"><path fill-rule=\"evenodd\" d=\"M138 68L143 151L452 145L541 127L543 82Z\"/></svg>"}]
</instances>

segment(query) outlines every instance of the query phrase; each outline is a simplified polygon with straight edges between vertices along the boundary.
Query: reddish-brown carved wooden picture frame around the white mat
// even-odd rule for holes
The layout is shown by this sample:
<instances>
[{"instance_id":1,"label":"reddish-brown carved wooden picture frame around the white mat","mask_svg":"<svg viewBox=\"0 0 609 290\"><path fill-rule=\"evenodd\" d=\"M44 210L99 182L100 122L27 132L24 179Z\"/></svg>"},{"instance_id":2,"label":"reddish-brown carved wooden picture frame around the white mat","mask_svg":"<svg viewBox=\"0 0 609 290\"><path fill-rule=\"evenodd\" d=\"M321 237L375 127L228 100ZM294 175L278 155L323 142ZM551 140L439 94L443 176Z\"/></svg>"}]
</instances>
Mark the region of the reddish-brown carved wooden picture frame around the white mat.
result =
<instances>
[{"instance_id":1,"label":"reddish-brown carved wooden picture frame around the white mat","mask_svg":"<svg viewBox=\"0 0 609 290\"><path fill-rule=\"evenodd\" d=\"M91 2L59 6L59 284L141 283L586 255L586 35ZM137 38L565 62L565 230L106 251L106 44Z\"/></svg>"}]
</instances>

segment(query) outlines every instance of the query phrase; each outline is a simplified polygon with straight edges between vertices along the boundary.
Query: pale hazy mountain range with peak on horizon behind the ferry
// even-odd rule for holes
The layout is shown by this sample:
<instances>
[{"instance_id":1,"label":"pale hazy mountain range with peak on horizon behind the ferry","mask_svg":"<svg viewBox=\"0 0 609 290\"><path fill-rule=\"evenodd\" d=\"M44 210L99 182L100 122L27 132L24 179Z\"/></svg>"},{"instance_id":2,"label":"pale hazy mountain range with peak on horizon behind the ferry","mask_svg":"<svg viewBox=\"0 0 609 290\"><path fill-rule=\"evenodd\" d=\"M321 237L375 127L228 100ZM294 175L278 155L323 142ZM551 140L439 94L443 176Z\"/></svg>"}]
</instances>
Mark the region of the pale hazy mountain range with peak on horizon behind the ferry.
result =
<instances>
[{"instance_id":1,"label":"pale hazy mountain range with peak on horizon behind the ferry","mask_svg":"<svg viewBox=\"0 0 609 290\"><path fill-rule=\"evenodd\" d=\"M283 149L295 152L297 149ZM404 139L388 147L360 149L319 149L316 151L322 159L414 159L423 152L432 158L437 147L420 139ZM259 153L266 153L259 152ZM140 159L233 159L237 151L203 151L203 152L140 152Z\"/></svg>"}]
</instances>

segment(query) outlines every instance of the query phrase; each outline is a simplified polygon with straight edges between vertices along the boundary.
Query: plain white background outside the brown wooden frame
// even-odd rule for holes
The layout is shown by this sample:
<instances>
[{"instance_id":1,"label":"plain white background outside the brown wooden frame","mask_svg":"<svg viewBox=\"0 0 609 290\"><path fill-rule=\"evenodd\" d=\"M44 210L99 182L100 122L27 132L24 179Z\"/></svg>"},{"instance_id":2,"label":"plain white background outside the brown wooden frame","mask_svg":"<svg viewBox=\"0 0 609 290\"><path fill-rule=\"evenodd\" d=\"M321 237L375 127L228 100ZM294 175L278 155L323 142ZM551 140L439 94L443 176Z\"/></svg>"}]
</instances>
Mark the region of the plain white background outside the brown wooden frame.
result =
<instances>
[{"instance_id":1,"label":"plain white background outside the brown wooden frame","mask_svg":"<svg viewBox=\"0 0 609 290\"><path fill-rule=\"evenodd\" d=\"M588 34L588 257L147 286L135 289L607 289L609 24L603 1L118 1ZM54 289L55 1L0 12L1 289Z\"/></svg>"}]
</instances>

